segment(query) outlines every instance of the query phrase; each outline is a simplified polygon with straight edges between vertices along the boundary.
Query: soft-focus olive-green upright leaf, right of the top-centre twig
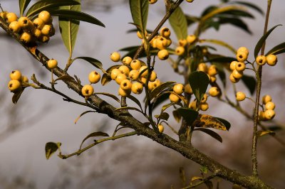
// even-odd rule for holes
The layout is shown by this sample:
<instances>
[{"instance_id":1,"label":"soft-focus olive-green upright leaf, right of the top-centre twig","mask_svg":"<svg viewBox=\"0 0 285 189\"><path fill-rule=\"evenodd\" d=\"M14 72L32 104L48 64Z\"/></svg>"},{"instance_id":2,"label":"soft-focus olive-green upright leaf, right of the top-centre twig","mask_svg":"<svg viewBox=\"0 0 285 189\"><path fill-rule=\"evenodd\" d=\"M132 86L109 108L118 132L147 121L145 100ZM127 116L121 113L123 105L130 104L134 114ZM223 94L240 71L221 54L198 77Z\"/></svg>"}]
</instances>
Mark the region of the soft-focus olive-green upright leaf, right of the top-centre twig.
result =
<instances>
[{"instance_id":1,"label":"soft-focus olive-green upright leaf, right of the top-centre twig","mask_svg":"<svg viewBox=\"0 0 285 189\"><path fill-rule=\"evenodd\" d=\"M178 40L187 38L187 19L180 6L175 9L168 20Z\"/></svg>"}]
</instances>

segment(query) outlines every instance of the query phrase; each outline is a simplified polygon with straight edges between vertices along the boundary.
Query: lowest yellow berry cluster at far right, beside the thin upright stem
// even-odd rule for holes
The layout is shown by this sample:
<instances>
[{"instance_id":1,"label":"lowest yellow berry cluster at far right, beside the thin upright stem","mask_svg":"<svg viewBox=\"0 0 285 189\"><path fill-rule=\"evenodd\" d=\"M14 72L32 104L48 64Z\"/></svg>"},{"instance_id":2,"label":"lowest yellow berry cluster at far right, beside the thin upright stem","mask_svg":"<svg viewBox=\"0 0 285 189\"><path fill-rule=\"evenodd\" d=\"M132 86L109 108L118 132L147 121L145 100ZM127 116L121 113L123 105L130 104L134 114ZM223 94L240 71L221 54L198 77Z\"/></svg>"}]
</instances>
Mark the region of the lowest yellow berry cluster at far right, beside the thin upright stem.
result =
<instances>
[{"instance_id":1,"label":"lowest yellow berry cluster at far right, beside the thin upright stem","mask_svg":"<svg viewBox=\"0 0 285 189\"><path fill-rule=\"evenodd\" d=\"M262 97L262 104L264 104L265 111L259 111L260 121L268 121L275 117L275 104L271 100L270 95L264 95L264 97Z\"/></svg>"}]
</instances>

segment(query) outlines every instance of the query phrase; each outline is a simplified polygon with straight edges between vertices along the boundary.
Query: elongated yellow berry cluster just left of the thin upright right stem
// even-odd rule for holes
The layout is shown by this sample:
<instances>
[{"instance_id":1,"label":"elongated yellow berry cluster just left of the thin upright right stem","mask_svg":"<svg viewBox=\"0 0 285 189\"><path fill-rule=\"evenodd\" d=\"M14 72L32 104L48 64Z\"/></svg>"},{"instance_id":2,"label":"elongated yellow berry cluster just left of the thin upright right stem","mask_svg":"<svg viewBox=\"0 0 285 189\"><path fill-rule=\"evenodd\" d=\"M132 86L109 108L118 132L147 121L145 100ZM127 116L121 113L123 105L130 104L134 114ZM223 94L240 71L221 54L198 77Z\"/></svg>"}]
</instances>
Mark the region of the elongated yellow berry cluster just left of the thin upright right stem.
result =
<instances>
[{"instance_id":1,"label":"elongated yellow berry cluster just left of the thin upright right stem","mask_svg":"<svg viewBox=\"0 0 285 189\"><path fill-rule=\"evenodd\" d=\"M233 83L239 82L239 80L244 75L244 70L246 65L244 63L249 56L249 50L245 47L240 47L237 50L237 61L232 61L229 65L229 69L232 70L231 75L229 75L229 80Z\"/></svg>"}]
</instances>

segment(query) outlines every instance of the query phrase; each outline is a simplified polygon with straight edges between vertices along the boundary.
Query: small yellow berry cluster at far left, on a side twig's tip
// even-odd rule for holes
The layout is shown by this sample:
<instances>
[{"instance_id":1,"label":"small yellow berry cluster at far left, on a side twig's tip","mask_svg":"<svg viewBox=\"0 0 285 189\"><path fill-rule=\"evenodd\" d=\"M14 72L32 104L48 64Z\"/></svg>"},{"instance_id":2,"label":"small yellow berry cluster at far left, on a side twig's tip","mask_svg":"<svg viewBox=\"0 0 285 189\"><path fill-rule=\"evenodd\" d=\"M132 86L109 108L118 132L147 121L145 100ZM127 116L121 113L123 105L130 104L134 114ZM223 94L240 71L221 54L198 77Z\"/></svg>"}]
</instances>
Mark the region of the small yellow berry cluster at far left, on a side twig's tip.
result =
<instances>
[{"instance_id":1,"label":"small yellow berry cluster at far left, on a side twig's tip","mask_svg":"<svg viewBox=\"0 0 285 189\"><path fill-rule=\"evenodd\" d=\"M8 83L8 88L11 92L19 92L24 83L28 83L28 77L21 75L19 70L14 70L10 73L10 81Z\"/></svg>"}]
</instances>

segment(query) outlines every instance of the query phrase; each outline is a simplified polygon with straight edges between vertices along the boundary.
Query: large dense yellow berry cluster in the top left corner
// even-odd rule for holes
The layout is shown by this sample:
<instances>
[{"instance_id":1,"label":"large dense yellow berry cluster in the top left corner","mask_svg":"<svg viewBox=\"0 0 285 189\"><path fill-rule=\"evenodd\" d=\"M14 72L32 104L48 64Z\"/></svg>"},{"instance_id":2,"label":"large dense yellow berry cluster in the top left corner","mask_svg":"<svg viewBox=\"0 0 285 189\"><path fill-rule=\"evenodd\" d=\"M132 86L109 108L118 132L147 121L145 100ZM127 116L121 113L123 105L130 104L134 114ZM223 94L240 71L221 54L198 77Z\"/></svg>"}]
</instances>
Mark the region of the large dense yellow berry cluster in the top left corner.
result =
<instances>
[{"instance_id":1,"label":"large dense yellow berry cluster in the top left corner","mask_svg":"<svg viewBox=\"0 0 285 189\"><path fill-rule=\"evenodd\" d=\"M23 43L28 44L35 41L46 43L55 34L52 24L53 18L48 11L41 11L38 14L38 18L35 18L33 21L24 16L18 19L16 13L8 13L6 11L1 12L0 16L9 23L11 31L19 33L20 40Z\"/></svg>"}]
</instances>

